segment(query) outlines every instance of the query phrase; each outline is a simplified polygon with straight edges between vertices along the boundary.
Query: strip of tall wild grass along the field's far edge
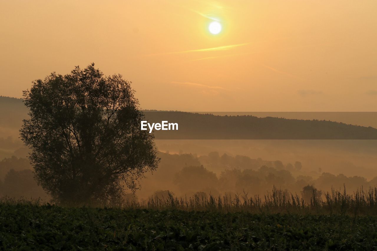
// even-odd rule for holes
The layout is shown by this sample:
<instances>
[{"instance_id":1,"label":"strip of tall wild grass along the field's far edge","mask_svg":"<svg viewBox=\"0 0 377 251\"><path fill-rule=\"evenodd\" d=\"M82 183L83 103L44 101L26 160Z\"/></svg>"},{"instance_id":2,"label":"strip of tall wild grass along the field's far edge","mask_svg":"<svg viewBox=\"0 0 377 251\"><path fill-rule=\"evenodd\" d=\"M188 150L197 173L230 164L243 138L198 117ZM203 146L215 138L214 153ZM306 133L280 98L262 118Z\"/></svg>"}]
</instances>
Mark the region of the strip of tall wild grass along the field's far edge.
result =
<instances>
[{"instance_id":1,"label":"strip of tall wild grass along the field's far edge","mask_svg":"<svg viewBox=\"0 0 377 251\"><path fill-rule=\"evenodd\" d=\"M354 194L331 189L324 198L304 201L298 194L289 194L273 187L262 199L260 196L249 197L243 194L224 194L214 197L211 194L194 194L192 197L176 197L168 193L166 197L150 197L141 202L126 201L123 208L143 208L152 210L184 210L184 211L218 211L250 213L295 213L295 214L340 214L340 215L377 215L377 187L363 187Z\"/></svg>"}]
</instances>

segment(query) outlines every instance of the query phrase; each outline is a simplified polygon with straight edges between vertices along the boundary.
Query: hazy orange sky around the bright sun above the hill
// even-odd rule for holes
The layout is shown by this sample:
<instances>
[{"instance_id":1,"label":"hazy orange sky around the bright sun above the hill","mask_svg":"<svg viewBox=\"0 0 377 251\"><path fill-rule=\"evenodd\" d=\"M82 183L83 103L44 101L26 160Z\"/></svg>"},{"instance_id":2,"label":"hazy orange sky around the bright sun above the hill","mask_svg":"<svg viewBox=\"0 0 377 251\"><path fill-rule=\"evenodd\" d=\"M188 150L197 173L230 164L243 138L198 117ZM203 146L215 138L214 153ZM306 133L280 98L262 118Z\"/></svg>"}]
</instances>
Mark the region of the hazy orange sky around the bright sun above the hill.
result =
<instances>
[{"instance_id":1,"label":"hazy orange sky around the bright sun above the hill","mask_svg":"<svg viewBox=\"0 0 377 251\"><path fill-rule=\"evenodd\" d=\"M95 62L143 109L376 111L375 13L369 0L2 1L0 95Z\"/></svg>"}]
</instances>

